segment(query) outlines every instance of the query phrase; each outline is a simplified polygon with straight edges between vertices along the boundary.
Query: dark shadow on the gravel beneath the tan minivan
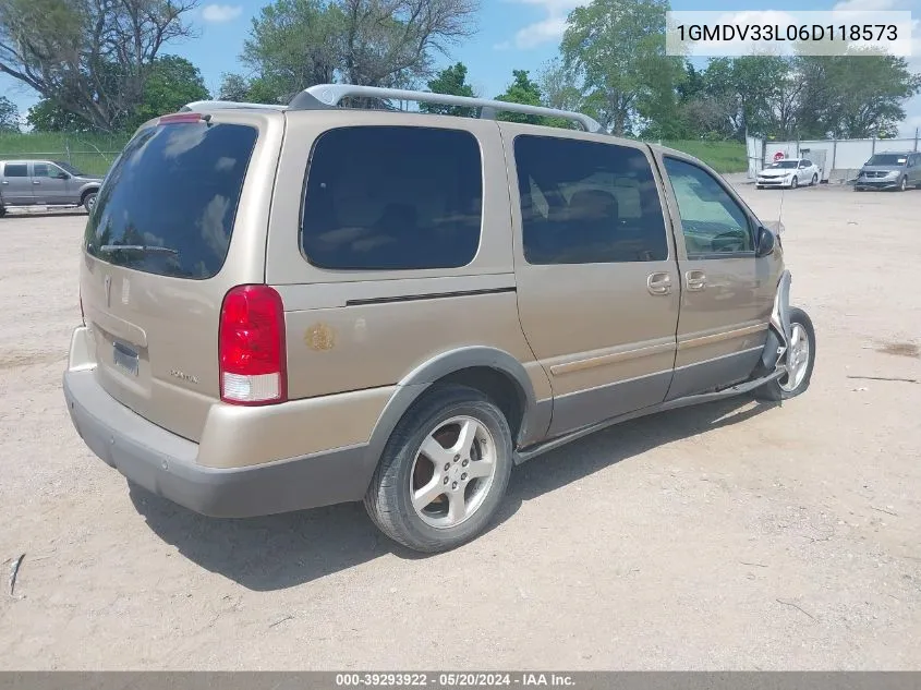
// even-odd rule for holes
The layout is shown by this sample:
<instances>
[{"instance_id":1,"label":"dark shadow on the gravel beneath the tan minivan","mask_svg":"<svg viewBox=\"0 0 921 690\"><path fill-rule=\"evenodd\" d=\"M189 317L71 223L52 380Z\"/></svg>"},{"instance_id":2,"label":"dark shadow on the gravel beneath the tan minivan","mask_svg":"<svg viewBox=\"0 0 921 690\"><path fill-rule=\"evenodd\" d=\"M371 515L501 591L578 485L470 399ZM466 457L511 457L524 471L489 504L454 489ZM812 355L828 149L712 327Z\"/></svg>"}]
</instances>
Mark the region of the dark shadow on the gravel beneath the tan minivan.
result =
<instances>
[{"instance_id":1,"label":"dark shadow on the gravel beneath the tan minivan","mask_svg":"<svg viewBox=\"0 0 921 690\"><path fill-rule=\"evenodd\" d=\"M775 403L776 404L776 403ZM742 396L616 425L540 456L512 472L494 526L523 501L670 441L742 423L775 407ZM311 582L392 553L416 554L380 534L361 504L245 520L205 518L131 485L131 499L150 529L190 560L254 591Z\"/></svg>"}]
</instances>

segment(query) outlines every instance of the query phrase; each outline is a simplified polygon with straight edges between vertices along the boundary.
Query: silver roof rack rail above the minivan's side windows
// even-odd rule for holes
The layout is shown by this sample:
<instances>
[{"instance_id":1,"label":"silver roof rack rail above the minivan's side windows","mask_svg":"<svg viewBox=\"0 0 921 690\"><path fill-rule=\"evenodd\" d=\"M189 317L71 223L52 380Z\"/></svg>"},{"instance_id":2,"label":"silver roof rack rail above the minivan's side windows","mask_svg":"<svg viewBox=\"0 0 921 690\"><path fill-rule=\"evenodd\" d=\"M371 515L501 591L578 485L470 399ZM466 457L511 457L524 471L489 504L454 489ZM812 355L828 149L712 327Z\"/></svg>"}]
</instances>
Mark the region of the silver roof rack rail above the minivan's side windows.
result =
<instances>
[{"instance_id":1,"label":"silver roof rack rail above the minivan's side windows","mask_svg":"<svg viewBox=\"0 0 921 690\"><path fill-rule=\"evenodd\" d=\"M480 108L482 119L495 119L496 112L520 112L522 114L545 116L572 120L582 125L586 132L602 133L604 129L598 122L581 112L556 110L538 106L488 100L486 98L468 98L465 96L449 96L447 94L432 94L428 92L405 90L402 88L379 88L377 86L355 86L352 84L317 84L305 88L294 96L288 105L288 110L317 110L335 108L343 98L349 97L381 98L392 100L411 100L415 102L438 104L441 106L460 106Z\"/></svg>"}]
</instances>

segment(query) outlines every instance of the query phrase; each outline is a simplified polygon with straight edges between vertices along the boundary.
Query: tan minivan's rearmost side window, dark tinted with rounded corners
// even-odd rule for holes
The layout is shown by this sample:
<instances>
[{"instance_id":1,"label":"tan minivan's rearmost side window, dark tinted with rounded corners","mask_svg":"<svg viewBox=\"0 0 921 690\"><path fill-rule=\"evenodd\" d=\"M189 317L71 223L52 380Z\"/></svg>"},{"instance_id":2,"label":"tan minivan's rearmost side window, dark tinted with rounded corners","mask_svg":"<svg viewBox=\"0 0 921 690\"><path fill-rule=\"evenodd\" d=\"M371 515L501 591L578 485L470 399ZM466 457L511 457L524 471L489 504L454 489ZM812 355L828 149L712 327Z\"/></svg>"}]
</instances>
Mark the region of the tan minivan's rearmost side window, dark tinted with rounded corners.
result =
<instances>
[{"instance_id":1,"label":"tan minivan's rearmost side window, dark tinted with rounded corners","mask_svg":"<svg viewBox=\"0 0 921 690\"><path fill-rule=\"evenodd\" d=\"M480 246L483 175L469 132L330 130L311 155L301 245L329 269L457 268Z\"/></svg>"}]
</instances>

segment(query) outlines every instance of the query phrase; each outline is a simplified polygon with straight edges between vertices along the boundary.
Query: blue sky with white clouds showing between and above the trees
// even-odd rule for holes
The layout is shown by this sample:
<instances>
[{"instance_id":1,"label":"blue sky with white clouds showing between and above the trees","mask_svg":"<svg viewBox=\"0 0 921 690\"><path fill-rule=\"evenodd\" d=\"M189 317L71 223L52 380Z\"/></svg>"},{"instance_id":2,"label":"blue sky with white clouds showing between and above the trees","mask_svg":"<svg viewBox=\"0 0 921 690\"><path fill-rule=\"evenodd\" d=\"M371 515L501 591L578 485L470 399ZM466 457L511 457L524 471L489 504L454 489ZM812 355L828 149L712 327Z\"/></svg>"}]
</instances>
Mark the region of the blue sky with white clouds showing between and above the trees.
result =
<instances>
[{"instance_id":1,"label":"blue sky with white clouds showing between and above the trees","mask_svg":"<svg viewBox=\"0 0 921 690\"><path fill-rule=\"evenodd\" d=\"M163 52L190 59L202 70L208 88L217 92L223 72L242 71L238 55L250 31L251 19L263 4L265 0L203 0L193 17L199 37L170 45ZM536 74L556 55L566 16L580 4L587 4L587 0L482 0L478 33L453 48L449 57L439 58L439 62L464 62L477 93L485 97L496 96L505 90L512 70L524 69ZM732 10L793 11L804 9L803 5L802 0L735 0ZM725 0L672 0L671 7L674 10L725 11L727 3ZM808 7L810 10L833 8L912 10L917 20L921 0L841 0L837 3L813 0ZM921 72L921 29L917 24L916 21L910 62L914 71ZM31 89L4 75L0 76L0 89L23 113L36 100ZM916 126L921 126L921 97L909 104L902 131L913 135Z\"/></svg>"}]
</instances>

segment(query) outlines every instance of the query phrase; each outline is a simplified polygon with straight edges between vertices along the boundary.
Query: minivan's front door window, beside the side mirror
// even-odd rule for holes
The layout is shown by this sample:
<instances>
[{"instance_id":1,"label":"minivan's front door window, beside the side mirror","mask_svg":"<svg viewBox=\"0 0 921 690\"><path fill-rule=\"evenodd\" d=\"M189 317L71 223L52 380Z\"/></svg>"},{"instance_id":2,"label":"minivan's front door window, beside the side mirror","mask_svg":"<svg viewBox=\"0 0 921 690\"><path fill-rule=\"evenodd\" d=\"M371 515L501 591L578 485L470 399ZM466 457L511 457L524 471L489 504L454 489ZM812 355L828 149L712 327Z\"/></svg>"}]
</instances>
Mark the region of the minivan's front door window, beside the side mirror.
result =
<instances>
[{"instance_id":1,"label":"minivan's front door window, beside the side mirror","mask_svg":"<svg viewBox=\"0 0 921 690\"><path fill-rule=\"evenodd\" d=\"M754 252L748 216L712 174L677 158L665 158L665 170L678 202L688 258Z\"/></svg>"}]
</instances>

